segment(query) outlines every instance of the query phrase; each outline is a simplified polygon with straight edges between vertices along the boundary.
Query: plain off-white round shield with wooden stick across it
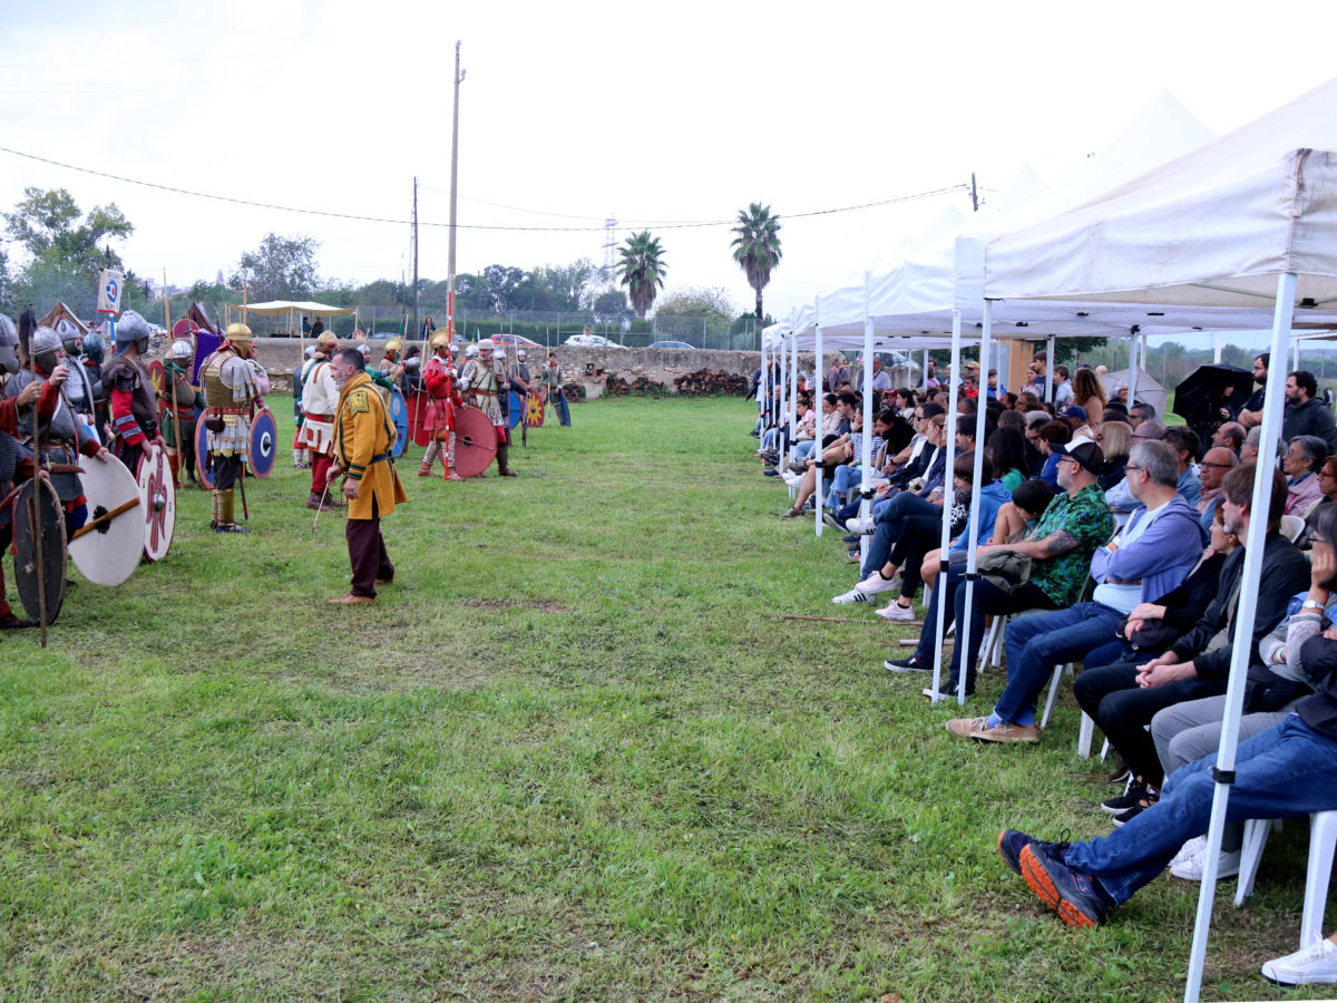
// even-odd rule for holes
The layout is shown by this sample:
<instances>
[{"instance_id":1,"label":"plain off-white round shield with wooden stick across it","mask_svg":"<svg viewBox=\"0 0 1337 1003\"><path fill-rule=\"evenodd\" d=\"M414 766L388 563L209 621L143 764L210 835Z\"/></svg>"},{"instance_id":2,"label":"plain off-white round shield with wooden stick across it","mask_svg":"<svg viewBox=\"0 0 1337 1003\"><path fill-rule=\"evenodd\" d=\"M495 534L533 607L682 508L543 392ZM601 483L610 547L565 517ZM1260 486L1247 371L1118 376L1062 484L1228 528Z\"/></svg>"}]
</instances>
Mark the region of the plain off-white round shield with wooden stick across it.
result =
<instances>
[{"instance_id":1,"label":"plain off-white round shield with wooden stick across it","mask_svg":"<svg viewBox=\"0 0 1337 1003\"><path fill-rule=\"evenodd\" d=\"M144 554L139 481L115 456L106 463L86 459L79 465L88 519L70 539L70 556L90 582L115 587L135 574Z\"/></svg>"}]
</instances>

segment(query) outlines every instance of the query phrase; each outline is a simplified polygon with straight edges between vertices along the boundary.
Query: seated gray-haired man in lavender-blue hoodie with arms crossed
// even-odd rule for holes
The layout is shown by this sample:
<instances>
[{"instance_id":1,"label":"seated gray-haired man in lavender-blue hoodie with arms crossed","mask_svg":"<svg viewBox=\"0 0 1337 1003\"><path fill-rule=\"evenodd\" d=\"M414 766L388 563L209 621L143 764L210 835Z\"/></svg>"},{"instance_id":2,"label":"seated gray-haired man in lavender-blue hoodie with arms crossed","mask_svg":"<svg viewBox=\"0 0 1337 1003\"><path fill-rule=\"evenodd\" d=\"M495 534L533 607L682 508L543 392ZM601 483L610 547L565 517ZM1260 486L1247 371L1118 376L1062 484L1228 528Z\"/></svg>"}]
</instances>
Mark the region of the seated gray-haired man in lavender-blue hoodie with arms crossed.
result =
<instances>
[{"instance_id":1,"label":"seated gray-haired man in lavender-blue hoodie with arms crossed","mask_svg":"<svg viewBox=\"0 0 1337 1003\"><path fill-rule=\"evenodd\" d=\"M1007 629L1007 686L993 713L949 721L947 730L985 742L1038 742L1036 699L1055 665L1084 658L1114 638L1139 602L1179 587L1202 555L1198 514L1178 493L1179 463L1166 443L1139 443L1127 481L1139 508L1091 559L1091 602L1015 618Z\"/></svg>"}]
</instances>

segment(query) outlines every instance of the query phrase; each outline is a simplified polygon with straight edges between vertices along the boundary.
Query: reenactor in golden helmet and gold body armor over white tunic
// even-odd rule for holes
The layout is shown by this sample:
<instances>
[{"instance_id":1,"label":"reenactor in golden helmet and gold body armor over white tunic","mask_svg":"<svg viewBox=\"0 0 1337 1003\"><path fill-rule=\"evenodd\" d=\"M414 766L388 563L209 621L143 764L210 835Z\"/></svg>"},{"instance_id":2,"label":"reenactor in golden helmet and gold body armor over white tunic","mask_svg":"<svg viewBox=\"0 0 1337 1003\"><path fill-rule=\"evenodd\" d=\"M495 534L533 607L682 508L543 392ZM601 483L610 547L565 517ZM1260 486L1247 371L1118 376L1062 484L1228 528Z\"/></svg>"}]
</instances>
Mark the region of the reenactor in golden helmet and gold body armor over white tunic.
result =
<instances>
[{"instance_id":1,"label":"reenactor in golden helmet and gold body armor over white tunic","mask_svg":"<svg viewBox=\"0 0 1337 1003\"><path fill-rule=\"evenodd\" d=\"M205 386L205 428L214 469L215 532L250 532L234 518L233 491L245 476L250 448L250 423L267 384L265 370L251 358L251 333L245 324L229 324L223 344L199 366ZM242 484L245 507L246 485Z\"/></svg>"}]
</instances>

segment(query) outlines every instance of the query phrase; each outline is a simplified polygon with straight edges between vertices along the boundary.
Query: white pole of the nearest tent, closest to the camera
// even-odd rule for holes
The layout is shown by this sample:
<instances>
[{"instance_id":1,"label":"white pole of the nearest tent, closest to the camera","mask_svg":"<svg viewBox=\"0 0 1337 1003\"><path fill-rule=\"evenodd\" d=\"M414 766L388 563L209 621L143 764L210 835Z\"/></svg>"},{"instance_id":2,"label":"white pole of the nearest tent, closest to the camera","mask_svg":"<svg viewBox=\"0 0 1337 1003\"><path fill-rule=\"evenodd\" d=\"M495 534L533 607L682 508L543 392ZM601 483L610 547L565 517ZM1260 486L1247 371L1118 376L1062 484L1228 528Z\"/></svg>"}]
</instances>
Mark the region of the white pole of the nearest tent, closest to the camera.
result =
<instances>
[{"instance_id":1,"label":"white pole of the nearest tent, closest to the camera","mask_svg":"<svg viewBox=\"0 0 1337 1003\"><path fill-rule=\"evenodd\" d=\"M1290 337L1292 314L1296 309L1296 274L1288 271L1277 278L1277 306L1271 318L1271 357L1286 357L1286 338ZM1258 610L1258 580L1262 575L1263 546L1267 538L1267 508L1275 465L1263 457L1277 455L1281 436L1281 412L1285 404L1285 366L1269 366L1267 389L1262 407L1262 437L1258 460L1254 464L1253 500L1249 504L1249 534L1245 539L1245 566L1239 578L1239 625L1251 625ZM1217 768L1211 776L1217 789L1211 798L1211 821L1207 828L1207 849L1203 861L1202 884L1198 889L1198 916L1193 928L1193 952L1189 956L1189 982L1183 990L1185 1003L1197 1003L1202 992L1202 966L1207 954L1207 931L1211 927L1211 905L1217 893L1217 863L1221 856L1221 836L1226 825L1230 801L1230 778L1235 769L1235 748L1239 744L1239 714L1245 703L1245 683L1249 671L1249 645L1234 645L1230 657L1230 677L1226 685L1226 711L1222 719L1221 748Z\"/></svg>"}]
</instances>

